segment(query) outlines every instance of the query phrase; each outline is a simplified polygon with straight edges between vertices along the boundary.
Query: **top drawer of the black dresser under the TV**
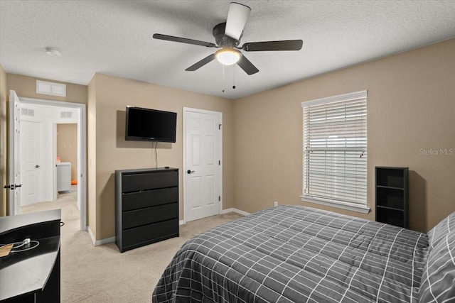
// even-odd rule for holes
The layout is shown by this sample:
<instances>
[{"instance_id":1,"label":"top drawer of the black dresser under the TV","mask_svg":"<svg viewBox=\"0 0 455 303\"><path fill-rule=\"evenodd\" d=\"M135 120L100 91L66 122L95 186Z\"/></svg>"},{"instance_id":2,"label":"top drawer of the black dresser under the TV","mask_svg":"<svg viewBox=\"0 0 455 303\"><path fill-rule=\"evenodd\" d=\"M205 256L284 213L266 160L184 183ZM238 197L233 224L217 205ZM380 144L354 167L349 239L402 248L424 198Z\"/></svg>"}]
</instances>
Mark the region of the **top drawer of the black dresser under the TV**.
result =
<instances>
[{"instance_id":1,"label":"top drawer of the black dresser under the TV","mask_svg":"<svg viewBox=\"0 0 455 303\"><path fill-rule=\"evenodd\" d=\"M178 171L159 171L125 174L122 177L122 192L178 186Z\"/></svg>"}]
</instances>

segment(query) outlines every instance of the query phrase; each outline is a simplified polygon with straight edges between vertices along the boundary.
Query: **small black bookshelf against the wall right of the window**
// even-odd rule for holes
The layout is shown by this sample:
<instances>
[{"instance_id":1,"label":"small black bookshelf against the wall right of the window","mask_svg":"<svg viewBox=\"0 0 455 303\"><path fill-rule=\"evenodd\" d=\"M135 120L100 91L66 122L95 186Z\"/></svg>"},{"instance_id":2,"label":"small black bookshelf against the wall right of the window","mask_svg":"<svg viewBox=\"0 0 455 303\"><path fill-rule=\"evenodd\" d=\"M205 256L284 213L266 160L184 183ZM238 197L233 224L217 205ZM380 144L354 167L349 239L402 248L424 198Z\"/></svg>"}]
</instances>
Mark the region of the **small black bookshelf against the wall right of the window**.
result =
<instances>
[{"instance_id":1,"label":"small black bookshelf against the wall right of the window","mask_svg":"<svg viewBox=\"0 0 455 303\"><path fill-rule=\"evenodd\" d=\"M375 167L376 221L409 228L409 168Z\"/></svg>"}]
</instances>

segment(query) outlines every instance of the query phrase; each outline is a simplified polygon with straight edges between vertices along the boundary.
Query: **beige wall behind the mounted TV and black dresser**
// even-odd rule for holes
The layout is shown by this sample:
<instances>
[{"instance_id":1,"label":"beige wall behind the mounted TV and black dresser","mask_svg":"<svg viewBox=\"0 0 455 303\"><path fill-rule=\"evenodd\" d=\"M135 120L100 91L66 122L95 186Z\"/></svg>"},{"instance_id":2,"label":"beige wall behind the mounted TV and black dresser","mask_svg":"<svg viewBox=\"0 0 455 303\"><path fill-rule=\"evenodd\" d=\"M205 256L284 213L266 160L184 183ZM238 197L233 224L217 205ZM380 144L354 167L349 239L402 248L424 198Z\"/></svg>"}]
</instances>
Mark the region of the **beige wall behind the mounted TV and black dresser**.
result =
<instances>
[{"instance_id":1,"label":"beige wall behind the mounted TV and black dresser","mask_svg":"<svg viewBox=\"0 0 455 303\"><path fill-rule=\"evenodd\" d=\"M92 91L95 91L95 93ZM177 113L176 143L158 143L159 166L177 167L179 171L180 219L183 219L183 107L223 113L223 208L234 205L232 192L233 133L232 101L220 97L172 89L156 84L97 74L89 85L89 163L96 163L96 227L90 215L90 230L97 240L114 236L114 171L154 167L151 142L125 141L124 119L127 105ZM92 104L95 103L95 104ZM95 117L95 118L94 118ZM91 123L96 125L92 125ZM92 131L92 130L90 130ZM93 145L92 140L95 140ZM93 158L95 155L95 158ZM90 164L89 164L90 165ZM90 170L90 168L89 168ZM91 173L93 173L91 171ZM92 186L89 175L89 187ZM93 192L90 194L92 203ZM90 207L90 211L91 211Z\"/></svg>"}]
</instances>

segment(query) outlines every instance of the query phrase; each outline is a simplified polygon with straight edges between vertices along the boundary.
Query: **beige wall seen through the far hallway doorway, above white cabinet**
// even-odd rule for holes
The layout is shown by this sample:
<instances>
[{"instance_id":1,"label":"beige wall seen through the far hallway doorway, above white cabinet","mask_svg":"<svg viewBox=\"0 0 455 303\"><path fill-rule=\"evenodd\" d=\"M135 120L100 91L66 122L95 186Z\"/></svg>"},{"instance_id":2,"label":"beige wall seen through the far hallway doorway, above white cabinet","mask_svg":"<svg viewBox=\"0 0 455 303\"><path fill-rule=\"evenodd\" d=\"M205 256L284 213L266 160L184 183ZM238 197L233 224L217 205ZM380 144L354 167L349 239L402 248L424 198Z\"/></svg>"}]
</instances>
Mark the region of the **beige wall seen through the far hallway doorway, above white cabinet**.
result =
<instances>
[{"instance_id":1,"label":"beige wall seen through the far hallway doorway, above white cabinet","mask_svg":"<svg viewBox=\"0 0 455 303\"><path fill-rule=\"evenodd\" d=\"M57 124L57 155L71 163L71 180L77 180L77 123Z\"/></svg>"}]
</instances>

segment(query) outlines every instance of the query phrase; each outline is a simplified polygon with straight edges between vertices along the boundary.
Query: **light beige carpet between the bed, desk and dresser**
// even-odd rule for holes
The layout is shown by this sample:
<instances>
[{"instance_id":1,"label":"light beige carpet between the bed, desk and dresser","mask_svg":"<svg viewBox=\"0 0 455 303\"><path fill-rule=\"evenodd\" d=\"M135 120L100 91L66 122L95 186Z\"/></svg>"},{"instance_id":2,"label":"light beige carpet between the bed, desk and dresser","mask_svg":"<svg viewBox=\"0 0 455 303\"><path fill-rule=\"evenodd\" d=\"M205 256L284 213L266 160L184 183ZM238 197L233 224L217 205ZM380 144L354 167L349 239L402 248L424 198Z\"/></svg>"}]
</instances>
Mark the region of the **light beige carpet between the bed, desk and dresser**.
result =
<instances>
[{"instance_id":1,"label":"light beige carpet between the bed, desk and dresser","mask_svg":"<svg viewBox=\"0 0 455 303\"><path fill-rule=\"evenodd\" d=\"M240 218L224 214L180 226L180 236L120 253L115 243L94 247L79 231L75 194L59 194L55 202L23 206L23 213L62 209L61 302L151 302L162 272L183 243L196 234Z\"/></svg>"}]
</instances>

